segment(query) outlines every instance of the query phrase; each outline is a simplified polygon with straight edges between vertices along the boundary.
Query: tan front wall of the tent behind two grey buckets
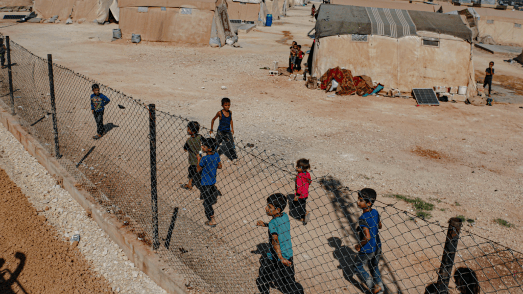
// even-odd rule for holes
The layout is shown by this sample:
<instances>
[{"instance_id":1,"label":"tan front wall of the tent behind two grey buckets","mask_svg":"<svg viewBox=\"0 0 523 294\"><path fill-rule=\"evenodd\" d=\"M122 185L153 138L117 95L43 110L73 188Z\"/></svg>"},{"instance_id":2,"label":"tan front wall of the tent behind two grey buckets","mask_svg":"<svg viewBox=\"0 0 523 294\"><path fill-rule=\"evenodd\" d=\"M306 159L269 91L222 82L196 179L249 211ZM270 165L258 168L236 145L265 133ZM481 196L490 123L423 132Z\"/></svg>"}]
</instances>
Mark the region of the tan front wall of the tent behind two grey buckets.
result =
<instances>
[{"instance_id":1,"label":"tan front wall of the tent behind two grey buckets","mask_svg":"<svg viewBox=\"0 0 523 294\"><path fill-rule=\"evenodd\" d=\"M180 8L162 11L161 7L149 7L140 13L138 7L120 7L119 27L125 39L138 33L144 41L209 44L213 10L192 9L191 14L181 14Z\"/></svg>"}]
</instances>

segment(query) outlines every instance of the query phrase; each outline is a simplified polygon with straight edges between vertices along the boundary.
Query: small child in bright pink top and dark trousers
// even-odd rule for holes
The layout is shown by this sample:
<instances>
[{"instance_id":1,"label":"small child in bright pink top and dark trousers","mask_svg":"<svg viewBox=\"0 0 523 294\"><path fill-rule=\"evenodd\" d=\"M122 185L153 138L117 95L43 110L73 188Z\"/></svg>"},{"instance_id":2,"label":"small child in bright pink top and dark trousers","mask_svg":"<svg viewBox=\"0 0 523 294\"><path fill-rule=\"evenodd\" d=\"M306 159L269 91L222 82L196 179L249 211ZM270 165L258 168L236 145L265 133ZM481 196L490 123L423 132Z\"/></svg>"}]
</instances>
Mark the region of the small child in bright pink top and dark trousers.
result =
<instances>
[{"instance_id":1,"label":"small child in bright pink top and dark trousers","mask_svg":"<svg viewBox=\"0 0 523 294\"><path fill-rule=\"evenodd\" d=\"M310 221L309 211L306 210L307 197L309 197L309 185L311 184L311 174L307 171L311 168L309 160L304 158L296 162L296 176L294 186L294 215L299 216L303 224Z\"/></svg>"}]
</instances>

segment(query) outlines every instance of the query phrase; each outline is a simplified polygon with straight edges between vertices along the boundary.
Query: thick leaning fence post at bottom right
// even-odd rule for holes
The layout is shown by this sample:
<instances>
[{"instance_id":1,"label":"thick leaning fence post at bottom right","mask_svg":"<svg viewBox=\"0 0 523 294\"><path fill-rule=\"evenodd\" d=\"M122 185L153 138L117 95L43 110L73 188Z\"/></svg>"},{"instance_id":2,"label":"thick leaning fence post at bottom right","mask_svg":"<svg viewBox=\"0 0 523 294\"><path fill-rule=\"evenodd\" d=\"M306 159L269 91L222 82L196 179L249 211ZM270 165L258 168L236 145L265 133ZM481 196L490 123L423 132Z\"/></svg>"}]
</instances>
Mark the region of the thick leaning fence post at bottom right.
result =
<instances>
[{"instance_id":1,"label":"thick leaning fence post at bottom right","mask_svg":"<svg viewBox=\"0 0 523 294\"><path fill-rule=\"evenodd\" d=\"M447 231L447 241L443 256L441 257L441 266L439 267L438 282L436 287L439 294L446 294L449 291L449 281L454 266L454 257L458 251L459 233L461 231L462 221L458 218L449 219L449 229Z\"/></svg>"}]
</instances>

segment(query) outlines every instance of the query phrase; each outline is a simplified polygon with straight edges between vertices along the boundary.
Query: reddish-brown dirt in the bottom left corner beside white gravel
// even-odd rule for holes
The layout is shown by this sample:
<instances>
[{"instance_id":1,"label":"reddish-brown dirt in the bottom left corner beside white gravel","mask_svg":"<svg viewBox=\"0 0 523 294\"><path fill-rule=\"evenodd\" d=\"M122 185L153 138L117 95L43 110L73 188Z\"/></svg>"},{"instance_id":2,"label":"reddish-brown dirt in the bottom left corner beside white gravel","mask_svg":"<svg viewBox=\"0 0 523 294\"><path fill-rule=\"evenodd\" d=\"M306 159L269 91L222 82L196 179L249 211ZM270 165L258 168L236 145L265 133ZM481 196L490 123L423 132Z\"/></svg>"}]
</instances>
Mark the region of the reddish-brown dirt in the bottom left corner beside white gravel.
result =
<instances>
[{"instance_id":1,"label":"reddish-brown dirt in the bottom left corner beside white gravel","mask_svg":"<svg viewBox=\"0 0 523 294\"><path fill-rule=\"evenodd\" d=\"M0 187L0 293L112 293L3 169Z\"/></svg>"}]
</instances>

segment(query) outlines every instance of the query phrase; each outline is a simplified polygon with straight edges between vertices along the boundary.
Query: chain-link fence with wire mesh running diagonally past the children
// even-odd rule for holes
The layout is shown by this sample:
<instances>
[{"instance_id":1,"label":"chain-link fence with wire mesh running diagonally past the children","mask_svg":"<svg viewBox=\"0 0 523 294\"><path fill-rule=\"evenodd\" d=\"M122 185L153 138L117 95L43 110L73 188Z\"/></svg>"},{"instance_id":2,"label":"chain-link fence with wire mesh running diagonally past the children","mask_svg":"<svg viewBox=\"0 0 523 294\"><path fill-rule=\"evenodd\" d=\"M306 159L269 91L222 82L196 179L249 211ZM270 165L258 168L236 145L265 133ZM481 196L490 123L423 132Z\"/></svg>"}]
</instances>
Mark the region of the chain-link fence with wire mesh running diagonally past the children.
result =
<instances>
[{"instance_id":1,"label":"chain-link fence with wire mesh running diagonally past the children","mask_svg":"<svg viewBox=\"0 0 523 294\"><path fill-rule=\"evenodd\" d=\"M96 123L89 97L96 82L13 41L9 47L12 70L1 71L0 106L15 113L22 127L56 157L81 188L183 273L190 281L186 285L190 291L257 293L267 287L272 292L297 294L375 290L372 281L369 288L366 276L359 274L362 255L354 245L365 239L358 231L362 210L355 191L336 179L312 175L306 198L311 220L303 224L295 209L294 165L241 141L235 142L233 156L227 152L231 145L225 144L221 150L230 158L221 155L223 168L216 184L220 196L214 204L218 225L211 228L204 223L198 189L181 187L187 183L189 166L184 151L189 137L187 119L154 110L152 105L100 85L100 93L110 103L103 116L106 133L94 140ZM206 129L200 134L210 137ZM281 278L290 277L292 273L285 270L292 267L267 259L274 247L267 229L256 225L257 220L270 220L266 198L276 193L287 198L295 282ZM520 253L468 232L466 227L460 230L459 220L453 220L448 229L379 199L373 208L382 222L382 253L376 259L382 282L374 282L382 291L424 293L436 283L440 292L458 293L451 276L454 269L466 267L473 270L472 280L484 293L523 293ZM378 275L373 266L369 269ZM470 275L458 273L471 281ZM476 288L471 285L465 289L474 293ZM434 292L430 287L427 292Z\"/></svg>"}]
</instances>

